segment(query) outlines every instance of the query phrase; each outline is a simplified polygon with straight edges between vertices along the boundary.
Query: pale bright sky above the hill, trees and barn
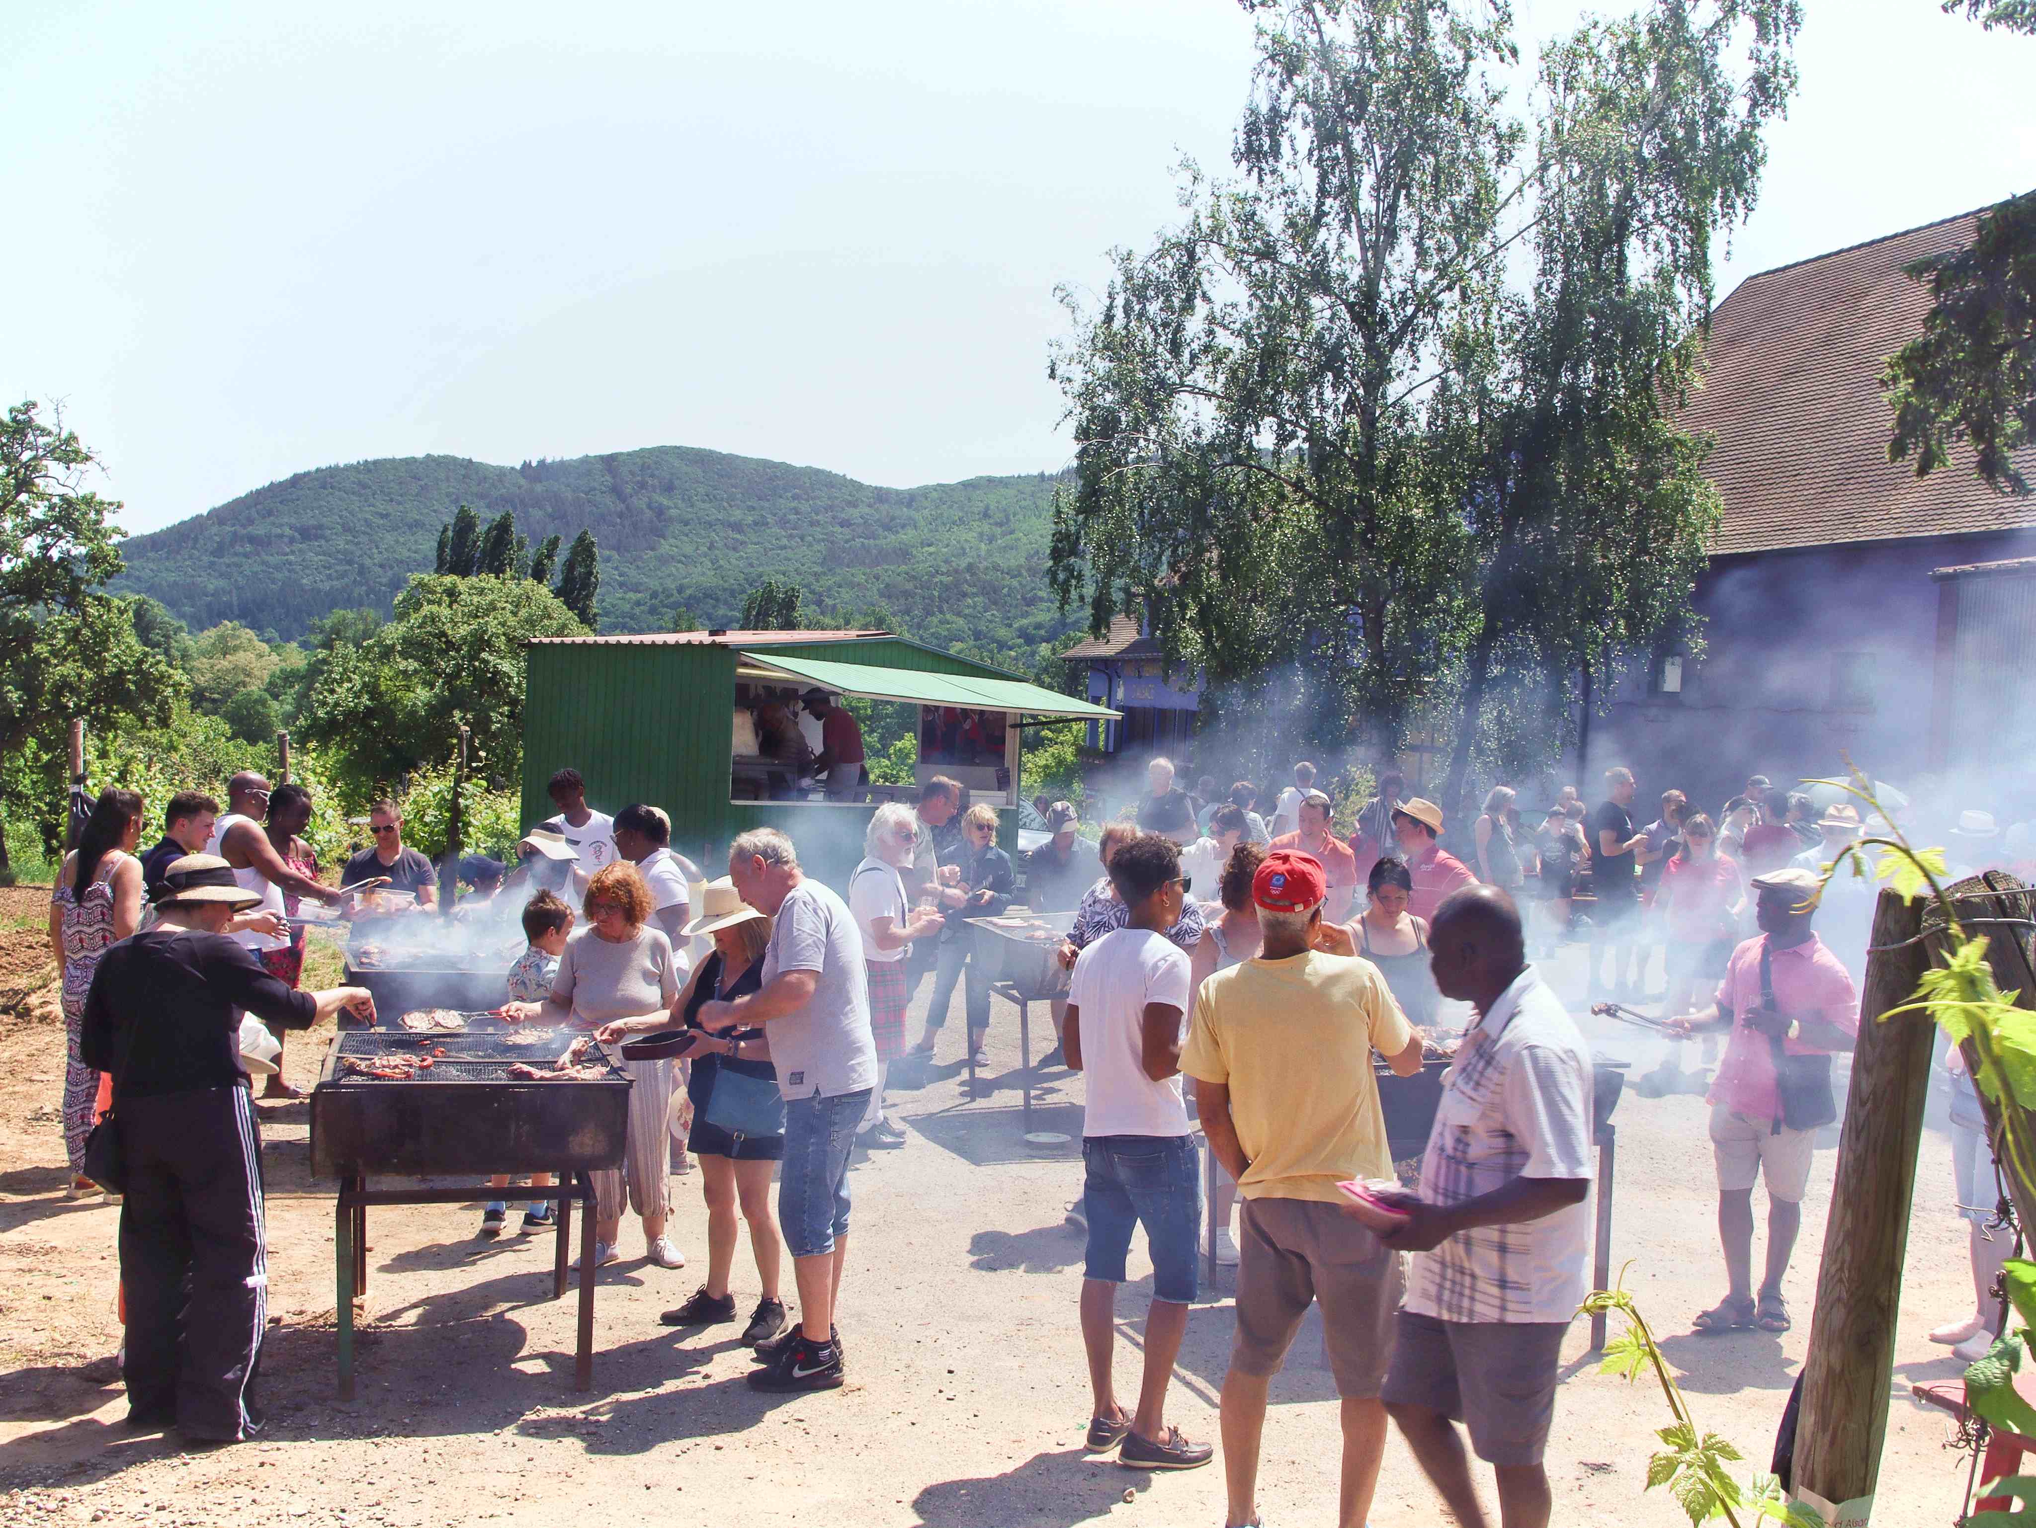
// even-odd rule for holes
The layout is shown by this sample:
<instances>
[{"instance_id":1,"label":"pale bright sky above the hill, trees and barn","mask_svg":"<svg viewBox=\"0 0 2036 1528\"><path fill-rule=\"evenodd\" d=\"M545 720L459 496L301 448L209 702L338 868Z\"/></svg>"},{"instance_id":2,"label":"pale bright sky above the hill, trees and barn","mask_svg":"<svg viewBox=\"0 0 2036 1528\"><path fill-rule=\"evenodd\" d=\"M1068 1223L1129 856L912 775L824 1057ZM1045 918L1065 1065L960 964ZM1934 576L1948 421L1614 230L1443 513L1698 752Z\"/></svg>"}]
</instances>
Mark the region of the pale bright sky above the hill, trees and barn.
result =
<instances>
[{"instance_id":1,"label":"pale bright sky above the hill, trees and barn","mask_svg":"<svg viewBox=\"0 0 2036 1528\"><path fill-rule=\"evenodd\" d=\"M1584 6L1515 10L1531 47ZM2036 39L1804 16L1718 297L2036 185ZM57 0L8 31L0 395L61 407L132 531L426 452L1055 470L1055 291L1177 216L1183 155L1226 165L1252 61L1228 0Z\"/></svg>"}]
</instances>

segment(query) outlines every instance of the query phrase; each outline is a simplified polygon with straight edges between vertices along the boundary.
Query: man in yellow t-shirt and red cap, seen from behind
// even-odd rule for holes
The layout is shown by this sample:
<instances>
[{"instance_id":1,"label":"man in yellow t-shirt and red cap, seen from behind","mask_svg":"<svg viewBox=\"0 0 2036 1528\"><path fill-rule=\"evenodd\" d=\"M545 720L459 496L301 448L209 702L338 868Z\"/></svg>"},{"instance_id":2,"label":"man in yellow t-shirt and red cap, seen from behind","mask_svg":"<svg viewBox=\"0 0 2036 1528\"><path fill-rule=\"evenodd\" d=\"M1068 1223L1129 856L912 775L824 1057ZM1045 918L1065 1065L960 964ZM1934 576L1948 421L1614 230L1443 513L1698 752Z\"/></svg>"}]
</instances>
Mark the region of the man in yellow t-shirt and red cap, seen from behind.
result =
<instances>
[{"instance_id":1,"label":"man in yellow t-shirt and red cap, seen from behind","mask_svg":"<svg viewBox=\"0 0 2036 1528\"><path fill-rule=\"evenodd\" d=\"M1238 1335L1222 1406L1232 1524L1258 1522L1266 1388L1309 1302L1321 1302L1344 1400L1338 1524L1358 1528L1370 1514L1387 1441L1378 1392L1393 1357L1399 1253L1344 1215L1336 1184L1393 1172L1372 1052L1411 1076L1421 1038L1378 966L1313 948L1327 891L1311 855L1266 855L1252 879L1264 948L1201 983L1181 1052L1209 1150L1244 1196Z\"/></svg>"}]
</instances>

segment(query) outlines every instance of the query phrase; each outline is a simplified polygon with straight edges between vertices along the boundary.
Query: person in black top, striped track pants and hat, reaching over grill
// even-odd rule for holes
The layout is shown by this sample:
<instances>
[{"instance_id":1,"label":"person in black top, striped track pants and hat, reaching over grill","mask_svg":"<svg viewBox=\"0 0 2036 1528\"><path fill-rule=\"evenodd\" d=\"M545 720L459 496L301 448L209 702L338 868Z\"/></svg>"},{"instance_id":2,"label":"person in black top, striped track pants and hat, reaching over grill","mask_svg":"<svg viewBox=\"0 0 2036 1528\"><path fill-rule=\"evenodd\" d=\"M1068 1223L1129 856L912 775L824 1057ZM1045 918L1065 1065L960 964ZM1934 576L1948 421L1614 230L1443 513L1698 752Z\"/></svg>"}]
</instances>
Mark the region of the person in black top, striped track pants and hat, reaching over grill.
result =
<instances>
[{"instance_id":1,"label":"person in black top, striped track pants and hat, reaching over grill","mask_svg":"<svg viewBox=\"0 0 2036 1528\"><path fill-rule=\"evenodd\" d=\"M238 1441L269 1320L261 1133L240 1062L242 1009L307 1027L362 987L293 991L220 930L259 897L214 855L173 861L161 922L114 944L86 999L86 1064L114 1076L124 1156L120 1284L128 1422Z\"/></svg>"}]
</instances>

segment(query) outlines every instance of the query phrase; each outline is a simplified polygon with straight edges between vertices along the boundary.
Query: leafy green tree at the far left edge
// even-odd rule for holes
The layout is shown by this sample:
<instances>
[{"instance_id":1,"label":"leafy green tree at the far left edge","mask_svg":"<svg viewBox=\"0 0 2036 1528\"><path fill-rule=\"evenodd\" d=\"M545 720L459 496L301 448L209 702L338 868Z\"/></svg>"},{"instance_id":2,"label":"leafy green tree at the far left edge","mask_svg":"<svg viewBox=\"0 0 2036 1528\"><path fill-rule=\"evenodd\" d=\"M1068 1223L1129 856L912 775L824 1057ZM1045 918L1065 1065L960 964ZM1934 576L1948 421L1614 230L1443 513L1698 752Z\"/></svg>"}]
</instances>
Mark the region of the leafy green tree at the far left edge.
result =
<instances>
[{"instance_id":1,"label":"leafy green tree at the far left edge","mask_svg":"<svg viewBox=\"0 0 2036 1528\"><path fill-rule=\"evenodd\" d=\"M83 482L94 456L33 401L0 423L0 879L4 824L61 812L69 718L161 722L183 678L104 592L120 572L118 503Z\"/></svg>"}]
</instances>

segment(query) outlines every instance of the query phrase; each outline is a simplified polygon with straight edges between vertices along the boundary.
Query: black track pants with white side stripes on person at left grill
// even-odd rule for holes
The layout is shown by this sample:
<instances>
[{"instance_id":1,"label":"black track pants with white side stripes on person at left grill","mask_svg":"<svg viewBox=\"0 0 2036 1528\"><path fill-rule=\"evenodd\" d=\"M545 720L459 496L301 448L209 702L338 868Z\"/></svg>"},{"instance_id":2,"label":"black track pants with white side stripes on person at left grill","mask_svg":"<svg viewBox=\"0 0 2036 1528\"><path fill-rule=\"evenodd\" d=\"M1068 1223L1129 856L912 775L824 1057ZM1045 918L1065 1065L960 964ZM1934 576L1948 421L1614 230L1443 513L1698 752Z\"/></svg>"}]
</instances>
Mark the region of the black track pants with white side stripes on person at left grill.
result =
<instances>
[{"instance_id":1,"label":"black track pants with white side stripes on person at left grill","mask_svg":"<svg viewBox=\"0 0 2036 1528\"><path fill-rule=\"evenodd\" d=\"M130 1412L197 1438L242 1438L269 1320L261 1137L248 1091L120 1099Z\"/></svg>"}]
</instances>

